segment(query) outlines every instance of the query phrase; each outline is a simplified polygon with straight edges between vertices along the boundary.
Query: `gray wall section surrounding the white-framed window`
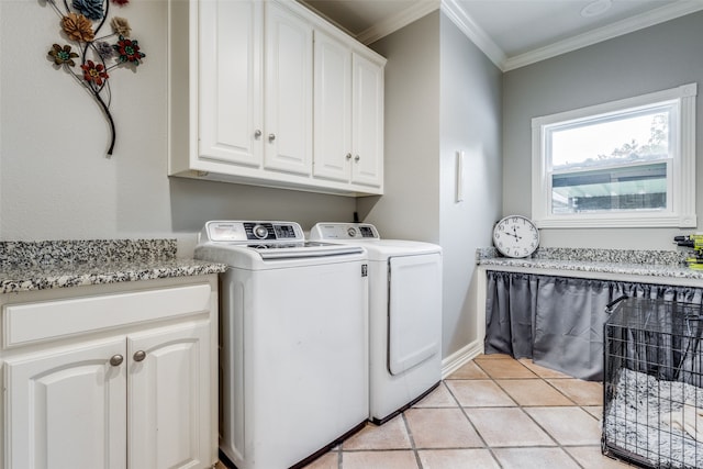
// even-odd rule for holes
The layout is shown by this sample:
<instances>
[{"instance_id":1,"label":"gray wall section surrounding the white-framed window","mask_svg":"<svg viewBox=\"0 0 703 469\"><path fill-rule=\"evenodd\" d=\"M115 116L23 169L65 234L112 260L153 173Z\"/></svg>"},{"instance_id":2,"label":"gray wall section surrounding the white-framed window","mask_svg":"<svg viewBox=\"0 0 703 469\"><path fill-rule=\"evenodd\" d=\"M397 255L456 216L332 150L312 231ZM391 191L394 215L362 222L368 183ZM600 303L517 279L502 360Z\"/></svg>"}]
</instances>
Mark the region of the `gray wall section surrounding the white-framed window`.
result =
<instances>
[{"instance_id":1,"label":"gray wall section surrounding the white-framed window","mask_svg":"<svg viewBox=\"0 0 703 469\"><path fill-rule=\"evenodd\" d=\"M503 214L531 214L531 120L570 109L673 88L703 85L703 13L694 13L504 74ZM696 113L703 115L703 97ZM698 119L696 148L703 145ZM703 158L696 160L696 187ZM703 191L696 194L699 231ZM542 230L549 247L673 249L676 234L694 230Z\"/></svg>"}]
</instances>

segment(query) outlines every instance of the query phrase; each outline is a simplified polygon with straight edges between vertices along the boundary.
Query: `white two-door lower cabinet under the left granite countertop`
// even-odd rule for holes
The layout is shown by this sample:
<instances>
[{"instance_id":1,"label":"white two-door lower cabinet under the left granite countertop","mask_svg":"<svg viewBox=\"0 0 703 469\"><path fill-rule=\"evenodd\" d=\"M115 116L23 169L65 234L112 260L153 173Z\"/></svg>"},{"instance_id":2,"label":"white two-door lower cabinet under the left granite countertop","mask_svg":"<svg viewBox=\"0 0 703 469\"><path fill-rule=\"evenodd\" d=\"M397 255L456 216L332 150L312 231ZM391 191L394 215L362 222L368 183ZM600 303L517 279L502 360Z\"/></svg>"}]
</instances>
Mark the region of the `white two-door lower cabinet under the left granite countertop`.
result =
<instances>
[{"instance_id":1,"label":"white two-door lower cabinet under the left granite countertop","mask_svg":"<svg viewBox=\"0 0 703 469\"><path fill-rule=\"evenodd\" d=\"M3 467L212 467L217 459L215 281L3 305ZM174 293L177 301L190 301L174 304ZM163 308L124 311L125 323L115 325L110 316L135 301ZM66 336L57 328L57 337L12 331L25 327L23 314L60 322L51 314L65 311L71 321L92 302L115 308L96 310L89 331L77 325L68 327L77 334ZM12 337L32 339L8 346Z\"/></svg>"}]
</instances>

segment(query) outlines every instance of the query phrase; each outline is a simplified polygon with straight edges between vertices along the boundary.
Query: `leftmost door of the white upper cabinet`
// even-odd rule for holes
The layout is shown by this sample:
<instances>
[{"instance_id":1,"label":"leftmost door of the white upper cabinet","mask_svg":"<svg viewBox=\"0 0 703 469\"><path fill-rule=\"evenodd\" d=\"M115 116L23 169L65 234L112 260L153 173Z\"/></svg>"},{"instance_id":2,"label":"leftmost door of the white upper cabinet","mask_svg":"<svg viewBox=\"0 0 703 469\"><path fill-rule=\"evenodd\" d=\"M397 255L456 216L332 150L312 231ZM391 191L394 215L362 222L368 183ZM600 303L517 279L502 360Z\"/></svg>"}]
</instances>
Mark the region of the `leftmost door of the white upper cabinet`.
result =
<instances>
[{"instance_id":1,"label":"leftmost door of the white upper cabinet","mask_svg":"<svg viewBox=\"0 0 703 469\"><path fill-rule=\"evenodd\" d=\"M258 167L261 2L209 0L199 8L200 63L191 65L199 70L199 157Z\"/></svg>"}]
</instances>

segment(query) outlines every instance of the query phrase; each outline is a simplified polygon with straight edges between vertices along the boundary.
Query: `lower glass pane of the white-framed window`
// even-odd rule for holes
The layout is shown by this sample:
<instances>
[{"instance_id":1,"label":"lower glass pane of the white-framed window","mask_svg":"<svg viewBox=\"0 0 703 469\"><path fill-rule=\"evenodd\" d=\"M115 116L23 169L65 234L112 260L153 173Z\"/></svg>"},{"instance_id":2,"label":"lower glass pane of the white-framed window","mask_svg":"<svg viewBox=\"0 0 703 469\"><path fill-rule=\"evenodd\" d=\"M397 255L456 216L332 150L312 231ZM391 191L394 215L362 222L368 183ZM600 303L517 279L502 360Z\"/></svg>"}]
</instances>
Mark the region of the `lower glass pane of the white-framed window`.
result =
<instances>
[{"instance_id":1,"label":"lower glass pane of the white-framed window","mask_svg":"<svg viewBox=\"0 0 703 469\"><path fill-rule=\"evenodd\" d=\"M665 210L667 161L555 174L551 213Z\"/></svg>"}]
</instances>

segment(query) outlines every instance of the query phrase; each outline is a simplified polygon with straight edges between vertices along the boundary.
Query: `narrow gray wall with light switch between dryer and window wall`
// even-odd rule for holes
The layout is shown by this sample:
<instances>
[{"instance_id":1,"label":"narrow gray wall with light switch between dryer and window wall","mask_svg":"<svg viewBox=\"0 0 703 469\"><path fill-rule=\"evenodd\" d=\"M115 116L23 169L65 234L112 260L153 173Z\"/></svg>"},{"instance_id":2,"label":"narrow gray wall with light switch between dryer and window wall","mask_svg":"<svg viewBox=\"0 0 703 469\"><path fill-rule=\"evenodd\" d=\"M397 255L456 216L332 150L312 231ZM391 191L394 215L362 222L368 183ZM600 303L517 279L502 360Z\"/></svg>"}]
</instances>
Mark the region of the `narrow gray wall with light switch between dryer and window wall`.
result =
<instances>
[{"instance_id":1,"label":"narrow gray wall with light switch between dryer and window wall","mask_svg":"<svg viewBox=\"0 0 703 469\"><path fill-rule=\"evenodd\" d=\"M440 241L445 356L480 344L476 249L491 245L501 211L502 74L446 16L440 52ZM457 152L465 153L464 201L456 201Z\"/></svg>"}]
</instances>

